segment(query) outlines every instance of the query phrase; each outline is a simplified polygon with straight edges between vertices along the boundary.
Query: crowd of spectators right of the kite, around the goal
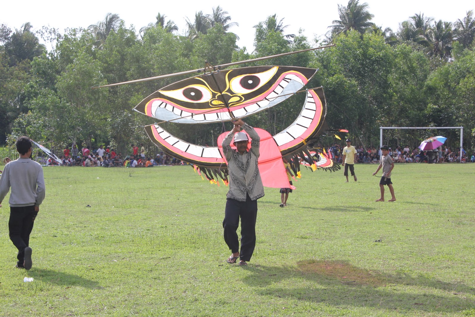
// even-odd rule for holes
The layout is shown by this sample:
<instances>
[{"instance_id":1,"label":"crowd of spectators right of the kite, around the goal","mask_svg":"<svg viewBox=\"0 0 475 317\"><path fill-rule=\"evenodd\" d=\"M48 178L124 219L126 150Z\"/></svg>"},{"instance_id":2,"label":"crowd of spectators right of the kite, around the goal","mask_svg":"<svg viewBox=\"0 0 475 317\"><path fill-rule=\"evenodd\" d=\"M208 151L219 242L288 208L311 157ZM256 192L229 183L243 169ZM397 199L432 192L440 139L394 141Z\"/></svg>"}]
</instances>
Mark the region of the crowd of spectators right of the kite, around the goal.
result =
<instances>
[{"instance_id":1,"label":"crowd of spectators right of the kite, around the goal","mask_svg":"<svg viewBox=\"0 0 475 317\"><path fill-rule=\"evenodd\" d=\"M339 144L333 144L329 148L332 154L332 159L335 162L342 163L341 147ZM355 163L380 163L379 149L371 146L366 150L363 147L356 146L356 161ZM394 149L389 148L389 154L394 163L452 163L452 162L472 162L475 163L475 152L468 158L464 149L462 149L462 158L460 159L459 150L452 151L450 147L440 146L434 150L422 151L418 147L410 149L408 145L401 147L397 146Z\"/></svg>"}]
</instances>

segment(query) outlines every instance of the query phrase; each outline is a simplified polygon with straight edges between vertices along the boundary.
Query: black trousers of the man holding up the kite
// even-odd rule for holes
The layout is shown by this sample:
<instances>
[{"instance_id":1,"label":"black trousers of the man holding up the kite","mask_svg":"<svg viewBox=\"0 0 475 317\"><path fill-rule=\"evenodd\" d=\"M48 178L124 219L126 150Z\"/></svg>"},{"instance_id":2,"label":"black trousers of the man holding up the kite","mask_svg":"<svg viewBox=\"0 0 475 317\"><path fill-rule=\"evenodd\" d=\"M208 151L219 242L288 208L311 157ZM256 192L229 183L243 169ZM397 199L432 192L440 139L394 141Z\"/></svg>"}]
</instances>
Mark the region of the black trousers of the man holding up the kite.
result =
<instances>
[{"instance_id":1,"label":"black trousers of the man holding up the kite","mask_svg":"<svg viewBox=\"0 0 475 317\"><path fill-rule=\"evenodd\" d=\"M240 259L249 261L256 247L257 200L251 200L249 195L245 202L230 198L226 200L223 220L224 241L233 253L239 251L239 240L236 233L239 217L241 218Z\"/></svg>"}]
</instances>

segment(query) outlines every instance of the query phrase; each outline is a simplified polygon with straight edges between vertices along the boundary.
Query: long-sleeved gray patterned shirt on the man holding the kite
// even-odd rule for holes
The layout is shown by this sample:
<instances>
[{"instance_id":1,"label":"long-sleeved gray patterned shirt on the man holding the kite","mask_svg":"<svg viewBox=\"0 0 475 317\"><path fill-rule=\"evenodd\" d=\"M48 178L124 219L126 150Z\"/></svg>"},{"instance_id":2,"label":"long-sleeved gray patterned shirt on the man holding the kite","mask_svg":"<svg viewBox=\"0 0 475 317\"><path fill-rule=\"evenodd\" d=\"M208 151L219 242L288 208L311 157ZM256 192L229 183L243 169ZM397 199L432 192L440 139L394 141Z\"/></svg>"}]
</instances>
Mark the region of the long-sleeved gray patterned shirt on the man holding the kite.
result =
<instances>
[{"instance_id":1,"label":"long-sleeved gray patterned shirt on the man holding the kite","mask_svg":"<svg viewBox=\"0 0 475 317\"><path fill-rule=\"evenodd\" d=\"M231 148L234 137L234 133L231 132L226 135L222 143L223 153L228 161L229 173L229 191L226 197L240 202L246 201L246 194L249 194L251 200L264 196L264 186L257 166L260 138L256 130L246 123L243 125L243 129L252 139L250 151L240 154Z\"/></svg>"}]
</instances>

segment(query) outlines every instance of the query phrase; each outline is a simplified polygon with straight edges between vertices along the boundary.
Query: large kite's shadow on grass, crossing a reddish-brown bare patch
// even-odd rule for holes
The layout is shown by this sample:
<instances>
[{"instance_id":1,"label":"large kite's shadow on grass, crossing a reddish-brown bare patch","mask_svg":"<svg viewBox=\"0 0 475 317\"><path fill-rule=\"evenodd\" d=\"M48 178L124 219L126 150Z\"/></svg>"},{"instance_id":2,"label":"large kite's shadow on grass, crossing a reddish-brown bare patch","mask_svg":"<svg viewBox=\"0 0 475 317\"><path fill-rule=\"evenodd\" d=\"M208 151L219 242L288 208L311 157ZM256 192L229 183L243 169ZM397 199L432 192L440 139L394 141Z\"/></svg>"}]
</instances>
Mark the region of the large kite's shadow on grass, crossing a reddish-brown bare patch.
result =
<instances>
[{"instance_id":1,"label":"large kite's shadow on grass, crossing a reddish-brown bare patch","mask_svg":"<svg viewBox=\"0 0 475 317\"><path fill-rule=\"evenodd\" d=\"M305 260L297 262L296 267L249 266L244 269L253 274L243 282L255 287L261 295L390 310L460 312L475 308L475 303L464 295L473 294L475 289L464 284L408 274L388 276L341 261ZM298 283L305 284L303 287L293 287L292 279L304 279L314 286L304 282ZM440 291L428 288L444 290L447 294L439 295Z\"/></svg>"}]
</instances>

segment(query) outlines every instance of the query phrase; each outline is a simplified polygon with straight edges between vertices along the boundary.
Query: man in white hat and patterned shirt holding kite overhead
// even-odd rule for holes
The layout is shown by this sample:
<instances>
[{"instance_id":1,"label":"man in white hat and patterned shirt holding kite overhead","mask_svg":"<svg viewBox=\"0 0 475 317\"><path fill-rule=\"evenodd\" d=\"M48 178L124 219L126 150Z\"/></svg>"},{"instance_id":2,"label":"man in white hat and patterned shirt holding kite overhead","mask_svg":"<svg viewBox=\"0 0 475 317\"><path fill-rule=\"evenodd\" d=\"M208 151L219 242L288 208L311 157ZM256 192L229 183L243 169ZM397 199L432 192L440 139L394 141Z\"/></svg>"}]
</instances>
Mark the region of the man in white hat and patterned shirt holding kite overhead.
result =
<instances>
[{"instance_id":1,"label":"man in white hat and patterned shirt holding kite overhead","mask_svg":"<svg viewBox=\"0 0 475 317\"><path fill-rule=\"evenodd\" d=\"M251 126L241 119L233 122L234 128L223 140L223 153L228 162L229 191L226 195L226 209L223 220L224 240L233 253L228 259L229 264L247 265L256 246L257 199L264 196L264 186L257 167L259 158L260 138ZM249 138L240 132L241 127L251 138L251 147L247 150ZM231 148L234 140L236 150ZM237 227L241 218L241 251Z\"/></svg>"}]
</instances>

